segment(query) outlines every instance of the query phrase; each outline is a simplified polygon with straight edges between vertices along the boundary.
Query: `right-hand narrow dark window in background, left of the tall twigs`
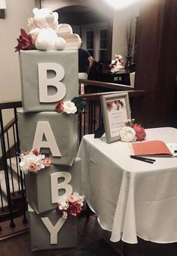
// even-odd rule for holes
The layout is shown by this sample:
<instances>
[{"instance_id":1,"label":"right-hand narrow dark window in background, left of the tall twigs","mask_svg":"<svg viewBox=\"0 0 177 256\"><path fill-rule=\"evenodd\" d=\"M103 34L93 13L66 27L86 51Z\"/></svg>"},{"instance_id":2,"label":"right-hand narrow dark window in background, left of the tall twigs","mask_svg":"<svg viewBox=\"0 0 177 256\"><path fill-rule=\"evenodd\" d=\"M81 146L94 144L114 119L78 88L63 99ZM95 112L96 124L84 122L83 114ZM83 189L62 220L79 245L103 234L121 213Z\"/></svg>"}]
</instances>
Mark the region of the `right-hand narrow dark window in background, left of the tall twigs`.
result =
<instances>
[{"instance_id":1,"label":"right-hand narrow dark window in background, left of the tall twigs","mask_svg":"<svg viewBox=\"0 0 177 256\"><path fill-rule=\"evenodd\" d=\"M107 61L108 58L108 30L100 30L99 61Z\"/></svg>"}]
</instances>

